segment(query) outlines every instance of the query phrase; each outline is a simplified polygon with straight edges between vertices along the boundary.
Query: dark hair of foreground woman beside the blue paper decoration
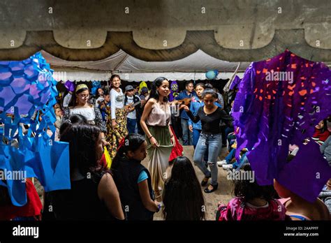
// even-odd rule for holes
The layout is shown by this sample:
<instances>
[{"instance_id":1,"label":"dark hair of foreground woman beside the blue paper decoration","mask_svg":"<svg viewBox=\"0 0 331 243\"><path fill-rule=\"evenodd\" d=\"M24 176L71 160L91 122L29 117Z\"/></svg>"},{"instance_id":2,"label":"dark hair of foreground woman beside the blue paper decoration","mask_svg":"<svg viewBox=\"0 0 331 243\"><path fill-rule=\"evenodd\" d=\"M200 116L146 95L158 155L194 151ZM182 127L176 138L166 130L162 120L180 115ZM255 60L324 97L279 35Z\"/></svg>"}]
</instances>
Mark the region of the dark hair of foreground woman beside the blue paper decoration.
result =
<instances>
[{"instance_id":1,"label":"dark hair of foreground woman beside the blue paper decoration","mask_svg":"<svg viewBox=\"0 0 331 243\"><path fill-rule=\"evenodd\" d=\"M101 133L100 128L90 124L76 123L66 120L66 126L61 134L60 141L69 142L70 172L78 169L84 176L87 172L99 172L102 167L98 163L96 142Z\"/></svg>"}]
</instances>

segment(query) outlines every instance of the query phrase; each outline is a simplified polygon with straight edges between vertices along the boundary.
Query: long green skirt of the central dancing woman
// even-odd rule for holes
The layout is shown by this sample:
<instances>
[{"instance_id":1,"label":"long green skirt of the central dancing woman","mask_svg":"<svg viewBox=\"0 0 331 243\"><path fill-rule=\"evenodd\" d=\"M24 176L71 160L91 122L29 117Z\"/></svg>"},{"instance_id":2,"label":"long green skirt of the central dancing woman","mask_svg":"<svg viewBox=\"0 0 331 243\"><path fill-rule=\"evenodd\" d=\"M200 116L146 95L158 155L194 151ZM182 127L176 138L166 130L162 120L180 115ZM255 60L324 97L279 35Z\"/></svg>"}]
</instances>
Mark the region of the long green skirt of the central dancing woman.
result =
<instances>
[{"instance_id":1,"label":"long green skirt of the central dancing woman","mask_svg":"<svg viewBox=\"0 0 331 243\"><path fill-rule=\"evenodd\" d=\"M172 150L172 142L168 126L148 126L149 132L159 143L159 147L152 147L147 141L147 156L149 159L148 170L151 174L154 191L161 191L166 178L165 170L169 166L169 157Z\"/></svg>"}]
</instances>

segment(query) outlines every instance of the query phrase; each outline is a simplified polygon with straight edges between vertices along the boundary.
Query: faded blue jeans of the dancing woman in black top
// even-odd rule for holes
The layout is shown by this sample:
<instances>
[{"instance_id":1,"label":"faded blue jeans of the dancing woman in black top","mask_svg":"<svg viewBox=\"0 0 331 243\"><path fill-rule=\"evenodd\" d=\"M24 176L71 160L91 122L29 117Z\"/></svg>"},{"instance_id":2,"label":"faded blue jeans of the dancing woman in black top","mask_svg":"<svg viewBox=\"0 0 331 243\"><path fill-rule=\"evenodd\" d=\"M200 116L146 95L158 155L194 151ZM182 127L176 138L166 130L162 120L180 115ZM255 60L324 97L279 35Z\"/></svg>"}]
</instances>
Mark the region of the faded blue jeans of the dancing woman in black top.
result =
<instances>
[{"instance_id":1,"label":"faded blue jeans of the dancing woman in black top","mask_svg":"<svg viewBox=\"0 0 331 243\"><path fill-rule=\"evenodd\" d=\"M217 168L216 161L217 156L219 156L219 151L221 149L221 141L221 133L200 133L200 138L198 140L198 144L196 145L196 150L194 151L193 155L193 162L203 172L205 177L212 176L212 181L210 182L210 184L212 184L213 186L217 185L217 175L219 169ZM205 155L206 151L208 151L208 165L210 171L206 168L205 163L203 163L203 156Z\"/></svg>"}]
</instances>

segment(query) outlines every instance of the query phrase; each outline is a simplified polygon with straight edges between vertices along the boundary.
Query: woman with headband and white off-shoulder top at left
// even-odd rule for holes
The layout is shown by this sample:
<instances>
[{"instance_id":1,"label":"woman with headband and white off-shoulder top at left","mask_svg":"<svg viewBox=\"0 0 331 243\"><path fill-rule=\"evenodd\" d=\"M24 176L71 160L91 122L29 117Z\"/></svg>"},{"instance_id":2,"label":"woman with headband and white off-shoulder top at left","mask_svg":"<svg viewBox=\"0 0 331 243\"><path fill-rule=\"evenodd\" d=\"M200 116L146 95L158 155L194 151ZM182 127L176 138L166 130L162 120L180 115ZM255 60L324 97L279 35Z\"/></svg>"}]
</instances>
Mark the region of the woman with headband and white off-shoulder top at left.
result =
<instances>
[{"instance_id":1,"label":"woman with headband and white off-shoulder top at left","mask_svg":"<svg viewBox=\"0 0 331 243\"><path fill-rule=\"evenodd\" d=\"M79 84L71 101L68 105L68 108L64 110L64 116L62 117L62 124L64 121L68 120L71 115L78 114L82 115L87 119L88 124L96 125L101 130L102 142L103 145L109 145L109 142L105 140L105 133L107 128L105 126L105 121L103 121L101 112L95 105L89 104L89 88L86 84Z\"/></svg>"}]
</instances>

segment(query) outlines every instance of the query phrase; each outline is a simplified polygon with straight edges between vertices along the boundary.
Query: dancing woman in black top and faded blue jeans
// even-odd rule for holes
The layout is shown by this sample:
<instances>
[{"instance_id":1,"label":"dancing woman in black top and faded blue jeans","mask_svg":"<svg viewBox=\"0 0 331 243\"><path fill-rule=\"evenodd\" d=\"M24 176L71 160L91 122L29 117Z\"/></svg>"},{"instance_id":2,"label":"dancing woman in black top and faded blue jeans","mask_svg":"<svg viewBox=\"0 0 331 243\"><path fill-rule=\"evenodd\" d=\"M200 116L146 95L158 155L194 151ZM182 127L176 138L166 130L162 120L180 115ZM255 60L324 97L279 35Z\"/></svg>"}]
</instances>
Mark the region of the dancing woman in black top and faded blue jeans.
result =
<instances>
[{"instance_id":1,"label":"dancing woman in black top and faded blue jeans","mask_svg":"<svg viewBox=\"0 0 331 243\"><path fill-rule=\"evenodd\" d=\"M221 128L219 124L221 120L226 122L231 121L231 117L228 116L223 109L215 105L214 102L216 99L217 94L214 90L205 89L205 91L203 91L203 102L205 106L199 108L196 116L192 114L191 110L186 105L183 105L187 115L189 115L194 123L201 121L202 131L198 144L196 145L193 161L203 174L205 174L201 186L206 186L209 178L212 177L212 181L205 189L205 193L215 191L219 185L217 183L218 168L216 165L217 156L219 155L222 144ZM205 163L203 163L203 156L207 150L210 171L206 168Z\"/></svg>"}]
</instances>

